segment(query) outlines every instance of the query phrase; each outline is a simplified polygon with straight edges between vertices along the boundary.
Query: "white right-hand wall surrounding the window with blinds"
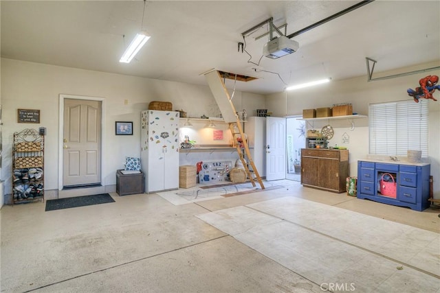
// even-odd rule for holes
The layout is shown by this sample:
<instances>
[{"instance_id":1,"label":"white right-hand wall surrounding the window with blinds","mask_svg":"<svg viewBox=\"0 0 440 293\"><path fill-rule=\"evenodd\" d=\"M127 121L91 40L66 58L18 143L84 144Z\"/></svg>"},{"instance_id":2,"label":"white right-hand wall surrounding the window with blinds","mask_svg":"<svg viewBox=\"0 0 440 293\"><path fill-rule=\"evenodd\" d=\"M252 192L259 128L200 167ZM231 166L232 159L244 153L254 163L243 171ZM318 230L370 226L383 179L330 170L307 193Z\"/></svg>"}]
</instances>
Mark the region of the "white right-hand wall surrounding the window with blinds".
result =
<instances>
[{"instance_id":1,"label":"white right-hand wall surrounding the window with blinds","mask_svg":"<svg viewBox=\"0 0 440 293\"><path fill-rule=\"evenodd\" d=\"M433 62L393 72L374 74L373 78L438 67L439 65L439 62ZM380 64L377 64L376 68L379 66ZM268 95L266 106L274 113L274 116L284 116L300 115L303 113L303 109L331 107L332 104L348 102L353 104L353 112L368 115L369 104L412 99L406 90L419 86L419 80L426 75L440 75L440 70L371 82L367 82L366 76L349 80L333 80L328 84L316 87ZM430 139L428 148L431 175L434 178L434 198L440 199L440 91L436 91L434 97L439 101L429 100ZM369 128L368 119L354 119L353 122L355 124L354 130L350 130L351 121L346 119L315 121L313 125L309 124L309 128L314 127L320 130L327 124L333 126L335 134L333 139L329 141L329 145L338 144L349 148L350 174L356 176L358 174L358 160L369 154ZM344 133L349 135L350 141L347 144L342 143Z\"/></svg>"}]
</instances>

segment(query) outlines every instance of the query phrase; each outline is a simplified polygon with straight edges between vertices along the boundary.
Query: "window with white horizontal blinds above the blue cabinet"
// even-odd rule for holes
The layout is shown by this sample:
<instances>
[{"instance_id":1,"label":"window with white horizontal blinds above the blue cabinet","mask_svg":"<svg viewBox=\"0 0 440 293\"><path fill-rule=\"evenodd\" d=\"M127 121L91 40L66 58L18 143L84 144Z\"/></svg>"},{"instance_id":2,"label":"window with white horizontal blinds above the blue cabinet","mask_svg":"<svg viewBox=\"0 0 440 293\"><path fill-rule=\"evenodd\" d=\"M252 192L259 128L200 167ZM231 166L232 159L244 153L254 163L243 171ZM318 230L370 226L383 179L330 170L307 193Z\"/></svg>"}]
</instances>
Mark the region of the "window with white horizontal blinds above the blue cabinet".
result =
<instances>
[{"instance_id":1,"label":"window with white horizontal blinds above the blue cabinet","mask_svg":"<svg viewBox=\"0 0 440 293\"><path fill-rule=\"evenodd\" d=\"M428 156L428 101L370 104L370 154L406 156L421 150Z\"/></svg>"}]
</instances>

